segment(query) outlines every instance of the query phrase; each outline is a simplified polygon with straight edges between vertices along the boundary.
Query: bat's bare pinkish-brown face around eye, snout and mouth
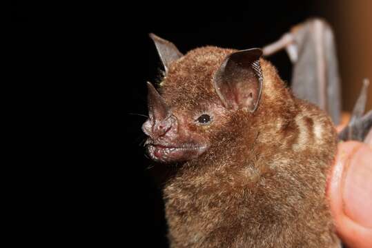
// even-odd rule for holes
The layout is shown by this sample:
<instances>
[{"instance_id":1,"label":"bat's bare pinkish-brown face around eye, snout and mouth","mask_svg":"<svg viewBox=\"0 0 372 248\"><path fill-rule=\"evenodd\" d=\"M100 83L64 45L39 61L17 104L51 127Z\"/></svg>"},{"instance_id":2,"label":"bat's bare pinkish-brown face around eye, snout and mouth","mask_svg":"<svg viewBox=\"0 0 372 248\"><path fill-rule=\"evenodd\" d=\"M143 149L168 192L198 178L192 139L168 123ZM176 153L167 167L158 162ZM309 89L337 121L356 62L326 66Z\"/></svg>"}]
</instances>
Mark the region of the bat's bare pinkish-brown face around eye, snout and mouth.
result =
<instances>
[{"instance_id":1,"label":"bat's bare pinkish-brown face around eye, snout and mouth","mask_svg":"<svg viewBox=\"0 0 372 248\"><path fill-rule=\"evenodd\" d=\"M158 94L150 84L148 92ZM197 109L188 110L179 105L160 109L159 103L153 101L149 101L149 105L153 106L150 118L142 126L148 135L146 149L150 158L162 163L188 161L204 154L220 123L226 123L228 117L221 105L201 104Z\"/></svg>"}]
</instances>

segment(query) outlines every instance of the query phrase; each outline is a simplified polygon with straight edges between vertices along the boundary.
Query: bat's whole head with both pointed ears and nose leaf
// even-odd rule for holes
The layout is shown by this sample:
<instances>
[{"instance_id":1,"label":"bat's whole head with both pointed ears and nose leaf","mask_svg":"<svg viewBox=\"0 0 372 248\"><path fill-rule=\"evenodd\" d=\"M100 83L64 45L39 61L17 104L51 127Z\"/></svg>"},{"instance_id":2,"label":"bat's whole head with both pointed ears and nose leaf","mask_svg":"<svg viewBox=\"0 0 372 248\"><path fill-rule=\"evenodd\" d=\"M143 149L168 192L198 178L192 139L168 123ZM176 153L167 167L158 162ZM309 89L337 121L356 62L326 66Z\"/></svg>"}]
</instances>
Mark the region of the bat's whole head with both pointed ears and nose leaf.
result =
<instances>
[{"instance_id":1,"label":"bat's whole head with both pointed ears and nose leaf","mask_svg":"<svg viewBox=\"0 0 372 248\"><path fill-rule=\"evenodd\" d=\"M262 51L204 47L183 55L173 43L150 37L165 74L159 92L148 83L147 152L164 163L196 159L220 143L219 134L231 132L237 112L257 109Z\"/></svg>"}]
</instances>

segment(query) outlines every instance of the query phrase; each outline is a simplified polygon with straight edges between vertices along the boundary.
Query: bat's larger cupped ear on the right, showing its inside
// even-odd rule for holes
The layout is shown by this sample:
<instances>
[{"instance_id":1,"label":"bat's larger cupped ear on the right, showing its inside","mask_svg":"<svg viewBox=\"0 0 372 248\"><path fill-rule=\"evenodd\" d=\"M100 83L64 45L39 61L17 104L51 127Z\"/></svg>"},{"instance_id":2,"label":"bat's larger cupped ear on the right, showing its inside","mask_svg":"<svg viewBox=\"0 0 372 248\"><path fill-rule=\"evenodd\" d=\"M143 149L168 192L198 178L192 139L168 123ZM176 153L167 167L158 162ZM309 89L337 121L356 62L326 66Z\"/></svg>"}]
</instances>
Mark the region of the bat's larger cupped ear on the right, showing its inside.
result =
<instances>
[{"instance_id":1,"label":"bat's larger cupped ear on the right, showing its inside","mask_svg":"<svg viewBox=\"0 0 372 248\"><path fill-rule=\"evenodd\" d=\"M228 55L213 83L224 107L238 110L243 107L254 112L262 91L262 70L260 56L262 50L252 48Z\"/></svg>"}]
</instances>

